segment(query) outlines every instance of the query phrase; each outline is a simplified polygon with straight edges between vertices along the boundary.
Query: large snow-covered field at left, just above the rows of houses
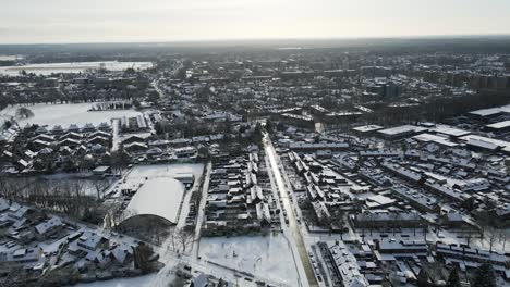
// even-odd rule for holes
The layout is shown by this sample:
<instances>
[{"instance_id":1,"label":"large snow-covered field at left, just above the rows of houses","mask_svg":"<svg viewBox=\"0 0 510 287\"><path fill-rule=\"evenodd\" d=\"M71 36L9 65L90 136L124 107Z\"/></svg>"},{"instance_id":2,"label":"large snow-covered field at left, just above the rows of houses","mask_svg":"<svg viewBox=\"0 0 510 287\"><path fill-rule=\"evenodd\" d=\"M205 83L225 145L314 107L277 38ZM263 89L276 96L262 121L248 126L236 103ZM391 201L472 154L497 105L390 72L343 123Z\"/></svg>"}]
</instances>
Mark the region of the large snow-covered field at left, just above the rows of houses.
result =
<instances>
[{"instance_id":1,"label":"large snow-covered field at left, just above the rows of houses","mask_svg":"<svg viewBox=\"0 0 510 287\"><path fill-rule=\"evenodd\" d=\"M84 126L87 123L98 125L100 123L110 124L111 118L122 116L137 116L141 113L134 110L121 111L104 111L104 112L88 112L93 103L71 103L71 104L34 104L24 105L28 108L34 116L29 118L20 120L21 126L26 124L48 125L52 128L54 125L62 125L63 128L69 127L70 124L77 124ZM19 105L10 105L0 111L0 117L9 120L14 116Z\"/></svg>"}]
</instances>

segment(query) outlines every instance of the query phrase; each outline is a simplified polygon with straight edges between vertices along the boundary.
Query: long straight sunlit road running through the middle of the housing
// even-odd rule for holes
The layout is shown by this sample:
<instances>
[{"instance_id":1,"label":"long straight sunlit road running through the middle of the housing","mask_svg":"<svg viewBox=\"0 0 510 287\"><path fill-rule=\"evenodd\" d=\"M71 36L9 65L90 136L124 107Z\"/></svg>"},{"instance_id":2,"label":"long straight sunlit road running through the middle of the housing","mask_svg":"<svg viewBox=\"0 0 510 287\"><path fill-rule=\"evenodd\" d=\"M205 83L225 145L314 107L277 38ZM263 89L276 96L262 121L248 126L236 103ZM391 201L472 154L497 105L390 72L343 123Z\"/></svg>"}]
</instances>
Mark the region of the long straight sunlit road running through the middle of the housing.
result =
<instances>
[{"instance_id":1,"label":"long straight sunlit road running through the middle of the housing","mask_svg":"<svg viewBox=\"0 0 510 287\"><path fill-rule=\"evenodd\" d=\"M272 146L272 142L268 135L265 135L264 137L264 146L266 150L266 157L269 158L270 163L270 166L268 166L268 171L271 171L275 177L278 190L280 192L280 199L283 202L283 208L286 209L289 219L289 232L292 236L293 244L296 247L301 264L306 275L307 284L302 283L302 285L305 284L305 286L319 286L317 279L315 278L312 263L309 262L308 252L306 250L303 235L301 234L294 209L292 208L292 203L289 199L289 194L287 191L286 184L281 176L280 169L278 167L278 154L276 153L275 147Z\"/></svg>"}]
</instances>

